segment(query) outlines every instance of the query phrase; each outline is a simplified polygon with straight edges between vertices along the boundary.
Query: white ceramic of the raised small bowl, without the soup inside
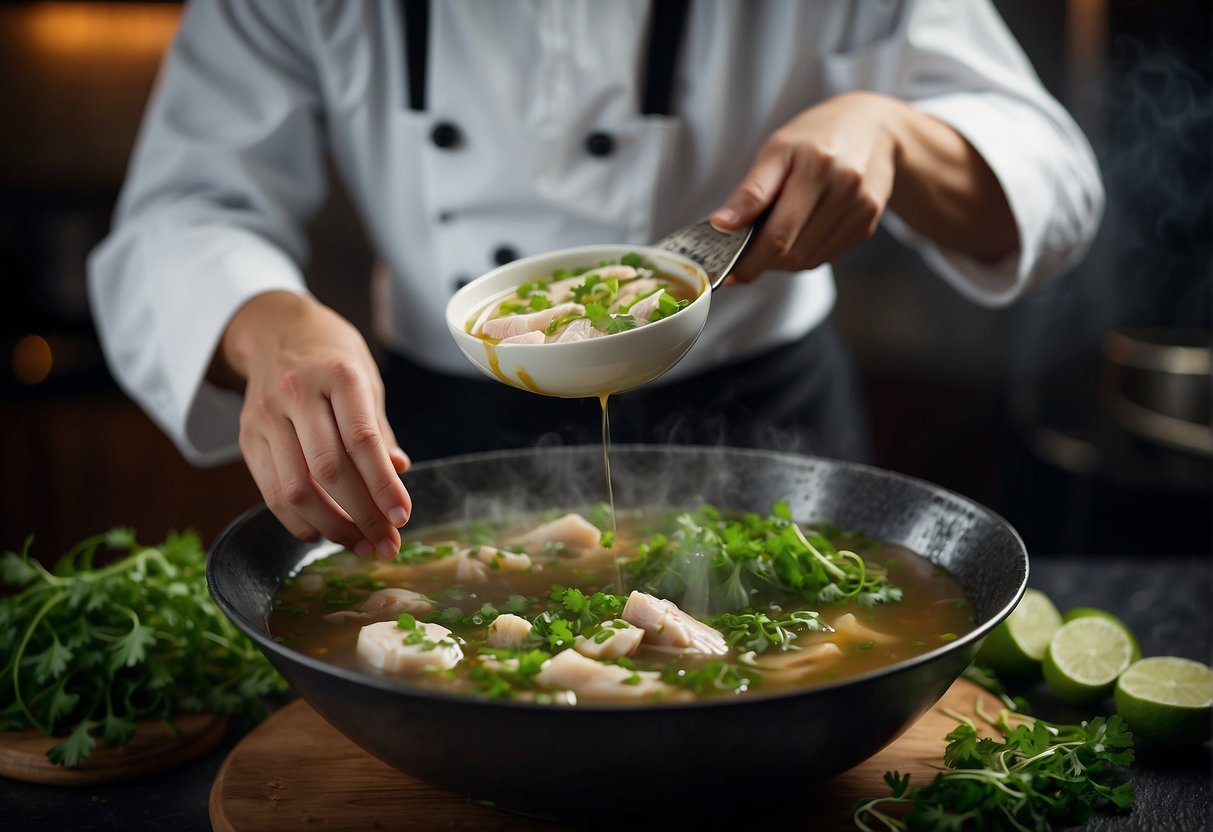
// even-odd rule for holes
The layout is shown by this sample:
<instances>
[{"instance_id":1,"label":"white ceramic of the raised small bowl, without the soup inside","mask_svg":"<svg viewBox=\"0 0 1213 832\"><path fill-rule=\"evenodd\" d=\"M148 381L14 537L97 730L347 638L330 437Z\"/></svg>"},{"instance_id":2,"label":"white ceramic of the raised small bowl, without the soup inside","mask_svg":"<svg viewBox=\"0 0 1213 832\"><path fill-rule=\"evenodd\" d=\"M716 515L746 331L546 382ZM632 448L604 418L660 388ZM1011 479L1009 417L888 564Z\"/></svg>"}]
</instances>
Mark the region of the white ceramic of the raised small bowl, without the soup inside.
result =
<instances>
[{"instance_id":1,"label":"white ceramic of the raised small bowl, without the soup inside","mask_svg":"<svg viewBox=\"0 0 1213 832\"><path fill-rule=\"evenodd\" d=\"M588 341L492 344L468 334L484 304L509 287L549 278L559 268L594 267L630 251L684 280L696 291L695 300L668 318ZM672 367L704 331L711 302L707 274L682 255L623 243L590 245L516 260L477 278L446 304L446 327L462 353L488 377L531 393L580 399L639 387Z\"/></svg>"}]
</instances>

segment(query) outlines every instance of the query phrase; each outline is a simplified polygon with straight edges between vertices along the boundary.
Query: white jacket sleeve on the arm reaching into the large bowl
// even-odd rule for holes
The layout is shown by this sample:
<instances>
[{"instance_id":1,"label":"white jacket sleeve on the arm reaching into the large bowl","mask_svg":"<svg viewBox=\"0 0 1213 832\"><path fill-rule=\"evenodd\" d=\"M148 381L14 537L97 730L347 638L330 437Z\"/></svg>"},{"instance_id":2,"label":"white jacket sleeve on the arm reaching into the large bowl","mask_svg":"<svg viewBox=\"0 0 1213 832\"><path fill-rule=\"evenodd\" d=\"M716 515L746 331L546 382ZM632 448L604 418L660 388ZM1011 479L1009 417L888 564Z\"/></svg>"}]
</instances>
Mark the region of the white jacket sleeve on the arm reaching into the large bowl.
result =
<instances>
[{"instance_id":1,"label":"white jacket sleeve on the arm reaching into the large bowl","mask_svg":"<svg viewBox=\"0 0 1213 832\"><path fill-rule=\"evenodd\" d=\"M188 5L148 104L89 297L110 370L199 465L237 454L240 397L206 381L232 315L306 291L326 192L302 4Z\"/></svg>"}]
</instances>

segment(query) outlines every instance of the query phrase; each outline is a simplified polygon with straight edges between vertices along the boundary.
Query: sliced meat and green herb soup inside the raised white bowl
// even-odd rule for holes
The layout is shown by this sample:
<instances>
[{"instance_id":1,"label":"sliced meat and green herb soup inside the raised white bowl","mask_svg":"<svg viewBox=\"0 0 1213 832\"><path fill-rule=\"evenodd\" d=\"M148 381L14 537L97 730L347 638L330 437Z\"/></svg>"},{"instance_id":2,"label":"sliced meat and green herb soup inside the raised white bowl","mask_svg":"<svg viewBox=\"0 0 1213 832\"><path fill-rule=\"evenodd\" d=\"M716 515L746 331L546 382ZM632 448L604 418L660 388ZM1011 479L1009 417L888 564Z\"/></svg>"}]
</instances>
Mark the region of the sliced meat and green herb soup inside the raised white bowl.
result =
<instances>
[{"instance_id":1,"label":"sliced meat and green herb soup inside the raised white bowl","mask_svg":"<svg viewBox=\"0 0 1213 832\"><path fill-rule=\"evenodd\" d=\"M668 318L696 291L636 252L597 266L556 269L499 295L468 332L491 343L568 343Z\"/></svg>"}]
</instances>

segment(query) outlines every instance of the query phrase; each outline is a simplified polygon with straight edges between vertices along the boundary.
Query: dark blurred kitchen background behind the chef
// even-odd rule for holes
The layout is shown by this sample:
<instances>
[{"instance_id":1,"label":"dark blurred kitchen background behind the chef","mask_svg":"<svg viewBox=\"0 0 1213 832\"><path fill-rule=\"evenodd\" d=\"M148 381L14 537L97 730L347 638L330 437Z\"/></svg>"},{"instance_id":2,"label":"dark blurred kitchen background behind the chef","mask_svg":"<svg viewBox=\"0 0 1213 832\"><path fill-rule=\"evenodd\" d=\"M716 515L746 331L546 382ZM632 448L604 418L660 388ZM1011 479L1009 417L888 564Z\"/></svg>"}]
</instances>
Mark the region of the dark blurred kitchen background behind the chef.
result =
<instances>
[{"instance_id":1,"label":"dark blurred kitchen background behind the chef","mask_svg":"<svg viewBox=\"0 0 1213 832\"><path fill-rule=\"evenodd\" d=\"M1094 144L1088 258L1021 304L961 300L879 235L838 263L877 463L986 503L1033 555L1209 553L1208 0L998 0ZM175 2L0 6L0 551L112 525L210 542L260 502L197 469L109 377L85 257L104 235ZM313 223L315 292L366 324L371 256L343 194Z\"/></svg>"}]
</instances>

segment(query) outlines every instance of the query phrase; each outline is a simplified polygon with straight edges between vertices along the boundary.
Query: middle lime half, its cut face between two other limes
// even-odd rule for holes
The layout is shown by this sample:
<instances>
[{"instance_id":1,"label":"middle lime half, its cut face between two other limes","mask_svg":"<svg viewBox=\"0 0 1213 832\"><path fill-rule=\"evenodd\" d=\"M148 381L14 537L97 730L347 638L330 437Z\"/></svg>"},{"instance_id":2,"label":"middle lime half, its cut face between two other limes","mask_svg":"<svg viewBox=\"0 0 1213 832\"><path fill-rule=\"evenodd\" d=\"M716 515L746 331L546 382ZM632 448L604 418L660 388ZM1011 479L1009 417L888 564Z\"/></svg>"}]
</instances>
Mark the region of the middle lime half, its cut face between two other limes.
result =
<instances>
[{"instance_id":1,"label":"middle lime half, its cut face between two other limes","mask_svg":"<svg viewBox=\"0 0 1213 832\"><path fill-rule=\"evenodd\" d=\"M1133 662L1133 643L1123 625L1084 616L1061 625L1044 651L1041 669L1059 697L1075 705L1098 702Z\"/></svg>"}]
</instances>

